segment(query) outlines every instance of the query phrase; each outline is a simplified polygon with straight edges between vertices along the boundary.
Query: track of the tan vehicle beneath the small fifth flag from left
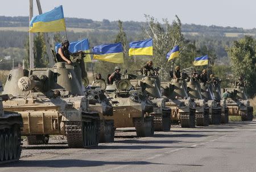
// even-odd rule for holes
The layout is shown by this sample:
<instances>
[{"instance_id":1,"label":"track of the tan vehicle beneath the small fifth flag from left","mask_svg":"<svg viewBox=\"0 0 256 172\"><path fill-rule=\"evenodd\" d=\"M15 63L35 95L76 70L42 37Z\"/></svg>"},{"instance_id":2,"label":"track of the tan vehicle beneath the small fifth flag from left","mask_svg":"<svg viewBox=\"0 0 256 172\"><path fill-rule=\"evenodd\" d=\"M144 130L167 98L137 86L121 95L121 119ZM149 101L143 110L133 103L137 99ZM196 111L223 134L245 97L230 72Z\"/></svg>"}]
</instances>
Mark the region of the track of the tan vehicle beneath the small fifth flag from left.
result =
<instances>
[{"instance_id":1,"label":"track of the tan vehicle beneath the small fifth flag from left","mask_svg":"<svg viewBox=\"0 0 256 172\"><path fill-rule=\"evenodd\" d=\"M193 128L196 126L195 113L180 113L180 124L182 128Z\"/></svg>"}]
</instances>

